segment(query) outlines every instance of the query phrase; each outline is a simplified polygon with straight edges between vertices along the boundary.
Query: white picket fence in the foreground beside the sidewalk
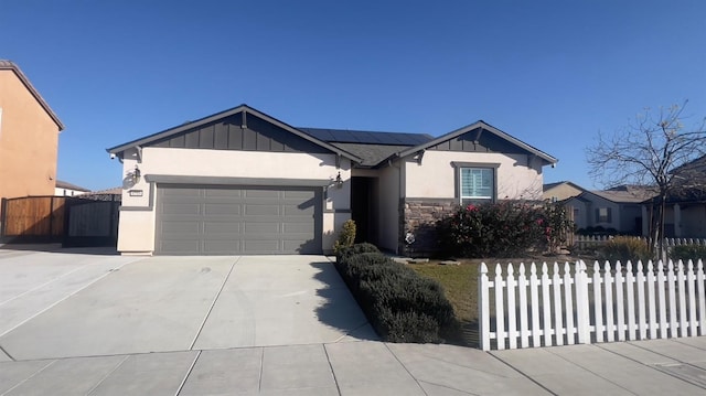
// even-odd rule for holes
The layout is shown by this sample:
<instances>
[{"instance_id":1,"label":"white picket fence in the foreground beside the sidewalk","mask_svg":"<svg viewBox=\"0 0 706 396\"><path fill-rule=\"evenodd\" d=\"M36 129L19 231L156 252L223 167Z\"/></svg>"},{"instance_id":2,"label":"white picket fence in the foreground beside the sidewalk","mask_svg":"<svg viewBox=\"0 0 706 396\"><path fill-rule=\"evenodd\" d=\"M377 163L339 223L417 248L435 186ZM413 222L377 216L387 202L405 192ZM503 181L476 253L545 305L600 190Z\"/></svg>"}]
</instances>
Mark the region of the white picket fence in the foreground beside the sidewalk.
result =
<instances>
[{"instance_id":1,"label":"white picket fence in the foreground beside the sidewalk","mask_svg":"<svg viewBox=\"0 0 706 396\"><path fill-rule=\"evenodd\" d=\"M563 268L560 268L563 267ZM563 269L563 270L560 270ZM704 265L481 264L481 347L517 349L706 334ZM537 274L539 270L539 274ZM492 309L492 310L491 310Z\"/></svg>"}]
</instances>

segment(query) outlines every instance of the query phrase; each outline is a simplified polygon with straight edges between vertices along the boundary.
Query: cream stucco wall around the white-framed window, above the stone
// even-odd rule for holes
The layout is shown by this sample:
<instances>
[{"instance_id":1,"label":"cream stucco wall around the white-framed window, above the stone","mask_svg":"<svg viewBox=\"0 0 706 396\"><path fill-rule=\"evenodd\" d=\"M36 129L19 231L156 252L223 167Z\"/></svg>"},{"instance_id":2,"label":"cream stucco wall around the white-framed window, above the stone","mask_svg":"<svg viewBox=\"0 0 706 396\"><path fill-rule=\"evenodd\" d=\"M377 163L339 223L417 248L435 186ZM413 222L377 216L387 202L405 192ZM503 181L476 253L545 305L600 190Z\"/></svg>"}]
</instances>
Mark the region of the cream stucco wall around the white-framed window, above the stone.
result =
<instances>
[{"instance_id":1,"label":"cream stucco wall around the white-framed window, above the stone","mask_svg":"<svg viewBox=\"0 0 706 396\"><path fill-rule=\"evenodd\" d=\"M405 197L452 199L456 195L456 172L452 162L500 164L498 167L499 200L542 200L542 165L524 154L484 152L427 151L421 164L404 163ZM530 168L527 167L530 164Z\"/></svg>"}]
</instances>

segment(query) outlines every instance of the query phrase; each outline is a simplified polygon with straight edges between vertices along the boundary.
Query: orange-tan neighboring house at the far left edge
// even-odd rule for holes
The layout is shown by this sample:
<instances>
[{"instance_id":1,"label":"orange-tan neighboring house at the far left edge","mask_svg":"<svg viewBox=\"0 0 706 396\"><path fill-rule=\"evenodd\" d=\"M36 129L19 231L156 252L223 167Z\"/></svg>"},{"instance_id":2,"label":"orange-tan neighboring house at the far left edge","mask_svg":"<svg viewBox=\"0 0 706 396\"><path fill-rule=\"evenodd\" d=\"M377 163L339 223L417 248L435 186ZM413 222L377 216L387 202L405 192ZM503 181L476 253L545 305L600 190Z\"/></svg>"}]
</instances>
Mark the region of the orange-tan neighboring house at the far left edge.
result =
<instances>
[{"instance_id":1,"label":"orange-tan neighboring house at the far left edge","mask_svg":"<svg viewBox=\"0 0 706 396\"><path fill-rule=\"evenodd\" d=\"M63 129L20 68L0 60L0 197L54 195Z\"/></svg>"}]
</instances>

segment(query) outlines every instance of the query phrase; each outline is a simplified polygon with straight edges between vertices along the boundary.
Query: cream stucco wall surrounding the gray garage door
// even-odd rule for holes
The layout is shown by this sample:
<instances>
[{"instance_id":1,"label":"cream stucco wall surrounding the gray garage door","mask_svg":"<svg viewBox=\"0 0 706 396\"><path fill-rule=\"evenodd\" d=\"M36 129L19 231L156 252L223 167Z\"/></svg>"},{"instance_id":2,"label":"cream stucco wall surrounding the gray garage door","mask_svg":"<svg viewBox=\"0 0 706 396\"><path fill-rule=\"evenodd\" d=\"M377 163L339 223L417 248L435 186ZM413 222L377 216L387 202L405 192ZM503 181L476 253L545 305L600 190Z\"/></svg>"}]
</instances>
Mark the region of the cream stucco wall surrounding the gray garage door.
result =
<instances>
[{"instance_id":1,"label":"cream stucco wall surrounding the gray garage door","mask_svg":"<svg viewBox=\"0 0 706 396\"><path fill-rule=\"evenodd\" d=\"M133 184L127 175L136 164L142 176ZM150 175L332 181L339 172L343 186L328 189L322 203L324 251L331 249L341 224L350 218L350 161L342 160L341 169L336 169L334 154L165 148L145 148L140 161L137 150L126 151L122 206L128 210L120 213L118 250L150 253L154 249L156 216L150 204L158 204L154 196L159 184L148 182ZM142 196L130 196L130 190L141 190Z\"/></svg>"}]
</instances>

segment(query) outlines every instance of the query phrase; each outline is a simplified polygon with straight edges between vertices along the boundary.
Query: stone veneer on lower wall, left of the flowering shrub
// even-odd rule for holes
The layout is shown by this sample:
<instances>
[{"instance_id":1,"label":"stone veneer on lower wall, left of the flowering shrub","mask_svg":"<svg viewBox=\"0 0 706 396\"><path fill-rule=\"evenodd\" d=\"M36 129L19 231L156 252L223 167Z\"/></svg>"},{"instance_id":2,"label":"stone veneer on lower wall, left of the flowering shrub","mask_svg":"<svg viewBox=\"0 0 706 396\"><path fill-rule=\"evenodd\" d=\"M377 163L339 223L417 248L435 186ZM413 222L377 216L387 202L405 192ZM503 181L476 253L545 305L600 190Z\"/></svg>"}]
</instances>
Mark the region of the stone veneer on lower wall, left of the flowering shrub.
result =
<instances>
[{"instance_id":1,"label":"stone veneer on lower wall, left of the flowering shrub","mask_svg":"<svg viewBox=\"0 0 706 396\"><path fill-rule=\"evenodd\" d=\"M450 216L459 206L454 199L402 199L399 251L409 257L431 256L438 250L436 224ZM415 242L407 244L405 237L411 233Z\"/></svg>"}]
</instances>

